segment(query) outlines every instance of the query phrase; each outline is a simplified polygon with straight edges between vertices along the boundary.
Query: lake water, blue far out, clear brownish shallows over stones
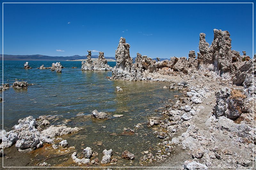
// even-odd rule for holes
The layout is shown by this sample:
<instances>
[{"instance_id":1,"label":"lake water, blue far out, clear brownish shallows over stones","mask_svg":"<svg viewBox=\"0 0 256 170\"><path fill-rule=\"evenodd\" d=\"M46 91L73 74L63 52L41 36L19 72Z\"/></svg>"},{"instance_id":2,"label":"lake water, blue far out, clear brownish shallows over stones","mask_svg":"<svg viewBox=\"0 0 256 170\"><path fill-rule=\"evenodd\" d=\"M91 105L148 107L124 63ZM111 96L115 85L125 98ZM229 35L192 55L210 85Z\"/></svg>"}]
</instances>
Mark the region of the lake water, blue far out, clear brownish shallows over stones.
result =
<instances>
[{"instance_id":1,"label":"lake water, blue far out, clear brownish shallows over stones","mask_svg":"<svg viewBox=\"0 0 256 170\"><path fill-rule=\"evenodd\" d=\"M128 150L135 155L132 164L128 160L118 159L117 164L111 166L139 166L139 159L143 156L141 152L149 149L153 151L157 143L161 142L153 135L152 128L147 127L148 117L161 116L164 107L173 104L168 100L180 93L163 89L164 85L169 86L168 82L112 81L106 78L111 77L111 71L82 71L81 62L62 61L65 67L62 73L36 69L42 64L50 67L53 62L56 61L29 61L33 69L26 70L23 69L25 61L4 61L4 83L12 85L18 79L34 84L28 89L10 87L4 91L4 129L10 130L19 119L29 115L34 118L56 115L50 121L51 125L65 123L70 127L83 128L62 137L69 146L75 146L78 153L89 146L92 151L99 152L98 158L101 160L104 149L112 149L114 157L121 157L121 153ZM115 62L108 64L113 67ZM123 92L116 92L116 86L123 88ZM107 113L109 119L92 120L89 115L95 109ZM115 114L124 116L115 118ZM137 123L141 123L144 128L135 129ZM121 135L125 128L133 129L135 134ZM116 135L110 135L113 133ZM67 158L70 157L67 155ZM48 162L65 165L64 161L56 161Z\"/></svg>"}]
</instances>

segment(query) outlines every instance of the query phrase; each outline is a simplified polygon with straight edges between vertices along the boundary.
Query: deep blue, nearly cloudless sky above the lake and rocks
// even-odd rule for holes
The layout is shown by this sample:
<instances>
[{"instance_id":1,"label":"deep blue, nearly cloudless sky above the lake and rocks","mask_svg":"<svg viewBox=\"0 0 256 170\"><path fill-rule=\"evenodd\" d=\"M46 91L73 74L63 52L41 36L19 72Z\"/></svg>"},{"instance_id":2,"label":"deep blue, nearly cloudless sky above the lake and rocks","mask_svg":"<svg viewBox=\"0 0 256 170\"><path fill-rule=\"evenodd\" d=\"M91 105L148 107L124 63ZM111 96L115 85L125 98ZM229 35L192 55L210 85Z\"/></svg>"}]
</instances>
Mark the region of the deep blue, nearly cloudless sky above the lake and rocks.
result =
<instances>
[{"instance_id":1,"label":"deep blue, nearly cloudless sky above the lake and rocks","mask_svg":"<svg viewBox=\"0 0 256 170\"><path fill-rule=\"evenodd\" d=\"M132 57L187 57L214 28L252 56L252 4L4 4L4 54L115 56L125 37Z\"/></svg>"}]
</instances>

